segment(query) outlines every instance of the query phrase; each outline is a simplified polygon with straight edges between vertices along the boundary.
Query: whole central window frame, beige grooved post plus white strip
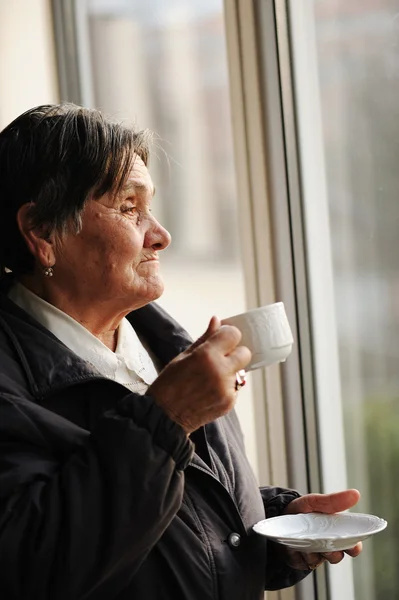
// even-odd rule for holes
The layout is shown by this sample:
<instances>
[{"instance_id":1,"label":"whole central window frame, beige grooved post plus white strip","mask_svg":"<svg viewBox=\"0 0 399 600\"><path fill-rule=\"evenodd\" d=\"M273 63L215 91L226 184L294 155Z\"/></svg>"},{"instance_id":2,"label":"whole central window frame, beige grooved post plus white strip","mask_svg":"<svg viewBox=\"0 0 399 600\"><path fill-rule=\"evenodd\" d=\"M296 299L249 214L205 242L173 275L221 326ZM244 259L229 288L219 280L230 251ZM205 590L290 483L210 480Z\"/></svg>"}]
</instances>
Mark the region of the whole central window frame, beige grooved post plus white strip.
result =
<instances>
[{"instance_id":1,"label":"whole central window frame, beige grooved post plus white strip","mask_svg":"<svg viewBox=\"0 0 399 600\"><path fill-rule=\"evenodd\" d=\"M225 0L242 251L244 264L248 265L249 304L284 300L297 339L294 354L281 369L280 387L270 385L276 373L271 374L269 370L264 378L260 397L266 398L266 408L263 415L258 407L257 416L260 428L266 428L267 435L260 450L263 452L266 448L269 454L270 482L281 481L286 473L289 485L300 491L321 492L331 486L333 489L344 487L346 464L339 407L333 414L330 402L329 409L325 410L326 402L331 400L331 390L339 392L334 319L331 319L328 340L323 340L319 333L325 329L320 328L321 319L326 317L326 312L328 318L328 311L330 316L334 311L333 294L330 293L326 308L321 305L322 296L318 293L324 284L331 292L332 272L330 269L322 281L318 281L325 265L319 261L315 268L317 260L309 257L315 248L312 227L320 214L311 214L310 204L315 198L309 193L309 177L303 180L303 169L309 170L310 163L309 157L303 160L303 153L309 148L304 144L306 123L298 88L299 85L306 87L306 83L302 81L304 63L298 65L293 56L293 50L296 52L300 43L300 33L302 38L306 37L303 15L302 28L297 25L294 31L292 24L293 11L298 20L298 13L305 5L307 18L312 19L312 0ZM312 51L312 67L317 70L315 45ZM318 99L318 94L315 98ZM323 161L321 130L317 135L319 161ZM322 176L310 183L313 191L315 185L322 184ZM325 229L321 235L325 235L324 250L328 257L326 194L323 211ZM265 212L267 218L263 216ZM265 237L271 239L267 257ZM332 369L325 381L326 366ZM323 411L319 409L321 406ZM280 418L281 412L283 433L274 426L276 415ZM333 428L327 432L329 421L339 432L336 443L332 440ZM336 466L331 460L335 452L339 456L341 474L338 477L334 475ZM276 456L284 457L285 464L281 465ZM337 487L337 482L342 485ZM351 565L347 562L344 569L319 570L313 581L308 578L295 588L295 598L352 598L352 588ZM269 596L293 597L285 591Z\"/></svg>"}]
</instances>

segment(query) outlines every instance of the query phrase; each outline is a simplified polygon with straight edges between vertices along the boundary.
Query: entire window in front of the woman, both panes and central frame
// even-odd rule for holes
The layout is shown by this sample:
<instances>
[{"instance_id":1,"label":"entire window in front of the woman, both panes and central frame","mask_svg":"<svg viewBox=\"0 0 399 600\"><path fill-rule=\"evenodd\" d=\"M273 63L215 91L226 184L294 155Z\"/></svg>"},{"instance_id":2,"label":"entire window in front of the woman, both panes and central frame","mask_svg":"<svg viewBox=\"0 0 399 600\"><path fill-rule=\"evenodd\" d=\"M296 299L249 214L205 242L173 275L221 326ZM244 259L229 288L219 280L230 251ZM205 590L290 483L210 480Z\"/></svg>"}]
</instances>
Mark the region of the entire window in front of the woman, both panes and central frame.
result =
<instances>
[{"instance_id":1,"label":"entire window in front of the woman, both panes and central frame","mask_svg":"<svg viewBox=\"0 0 399 600\"><path fill-rule=\"evenodd\" d=\"M245 229L252 300L288 305L295 356L262 375L271 479L288 473L303 492L358 487L359 510L389 522L353 570L347 560L328 588L308 580L296 597L399 599L399 2L54 3L76 18L79 85L63 99L159 135L155 210L174 239L161 302L194 337L212 313L243 310ZM241 229L235 170L249 197ZM266 423L257 428L245 394L238 410L257 468Z\"/></svg>"}]
</instances>

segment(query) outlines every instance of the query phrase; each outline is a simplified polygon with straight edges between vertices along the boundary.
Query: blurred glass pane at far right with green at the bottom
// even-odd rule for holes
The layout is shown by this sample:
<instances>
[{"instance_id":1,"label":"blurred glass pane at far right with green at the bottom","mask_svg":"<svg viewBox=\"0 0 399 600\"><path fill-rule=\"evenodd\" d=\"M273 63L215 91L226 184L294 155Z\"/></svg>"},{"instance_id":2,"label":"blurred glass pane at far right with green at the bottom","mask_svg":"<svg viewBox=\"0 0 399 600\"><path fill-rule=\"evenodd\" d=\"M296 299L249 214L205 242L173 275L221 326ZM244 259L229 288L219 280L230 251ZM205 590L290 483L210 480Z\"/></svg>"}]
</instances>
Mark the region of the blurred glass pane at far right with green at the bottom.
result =
<instances>
[{"instance_id":1,"label":"blurred glass pane at far right with green at the bottom","mask_svg":"<svg viewBox=\"0 0 399 600\"><path fill-rule=\"evenodd\" d=\"M399 599L399 1L314 0L348 481L388 520L357 600Z\"/></svg>"}]
</instances>

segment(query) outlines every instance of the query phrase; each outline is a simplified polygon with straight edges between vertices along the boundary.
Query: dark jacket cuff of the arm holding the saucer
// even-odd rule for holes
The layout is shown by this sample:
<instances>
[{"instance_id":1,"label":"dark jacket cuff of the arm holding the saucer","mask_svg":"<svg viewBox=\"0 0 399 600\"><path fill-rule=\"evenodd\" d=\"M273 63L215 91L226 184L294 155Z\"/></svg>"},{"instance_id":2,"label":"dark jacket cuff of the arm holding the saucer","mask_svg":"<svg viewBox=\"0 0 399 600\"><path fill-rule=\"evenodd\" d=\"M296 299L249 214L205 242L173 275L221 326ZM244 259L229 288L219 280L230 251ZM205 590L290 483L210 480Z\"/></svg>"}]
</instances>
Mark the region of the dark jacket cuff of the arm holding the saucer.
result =
<instances>
[{"instance_id":1,"label":"dark jacket cuff of the arm holding the saucer","mask_svg":"<svg viewBox=\"0 0 399 600\"><path fill-rule=\"evenodd\" d=\"M264 487L260 489L266 518L278 517L285 507L300 494L294 490L278 487ZM267 540L267 561L265 590L281 590L302 581L309 573L289 567L284 560L285 549L281 544Z\"/></svg>"}]
</instances>

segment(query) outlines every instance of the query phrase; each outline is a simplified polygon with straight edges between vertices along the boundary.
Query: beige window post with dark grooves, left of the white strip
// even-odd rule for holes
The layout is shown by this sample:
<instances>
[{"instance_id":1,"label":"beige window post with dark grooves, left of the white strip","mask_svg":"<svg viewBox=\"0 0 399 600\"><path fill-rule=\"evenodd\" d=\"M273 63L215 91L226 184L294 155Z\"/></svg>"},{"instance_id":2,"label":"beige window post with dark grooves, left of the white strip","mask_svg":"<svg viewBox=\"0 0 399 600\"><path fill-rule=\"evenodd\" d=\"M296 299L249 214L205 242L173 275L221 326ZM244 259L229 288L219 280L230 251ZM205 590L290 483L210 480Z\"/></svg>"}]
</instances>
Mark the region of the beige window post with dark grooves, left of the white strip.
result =
<instances>
[{"instance_id":1,"label":"beige window post with dark grooves, left of the white strip","mask_svg":"<svg viewBox=\"0 0 399 600\"><path fill-rule=\"evenodd\" d=\"M263 387L255 390L260 436L265 438L259 451L263 461L265 451L269 457L262 483L302 493L321 491L286 5L225 0L225 14L249 305L283 300L297 341L283 367L259 374ZM269 593L268 598L325 600L325 573L320 570L294 589Z\"/></svg>"}]
</instances>

